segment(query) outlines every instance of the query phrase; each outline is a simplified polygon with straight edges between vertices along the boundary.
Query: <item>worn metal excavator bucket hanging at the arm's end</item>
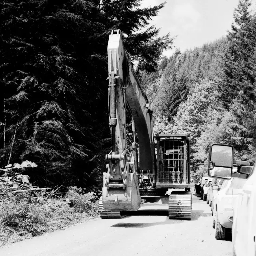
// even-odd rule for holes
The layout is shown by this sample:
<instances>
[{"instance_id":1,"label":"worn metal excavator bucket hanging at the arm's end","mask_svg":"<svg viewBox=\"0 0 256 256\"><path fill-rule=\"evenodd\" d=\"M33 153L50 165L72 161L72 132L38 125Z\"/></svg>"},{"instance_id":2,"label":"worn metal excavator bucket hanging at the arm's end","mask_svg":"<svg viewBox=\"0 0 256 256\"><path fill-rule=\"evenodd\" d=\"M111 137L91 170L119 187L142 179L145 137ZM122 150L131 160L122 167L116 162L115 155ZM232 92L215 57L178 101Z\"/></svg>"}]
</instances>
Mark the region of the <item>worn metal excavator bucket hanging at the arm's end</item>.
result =
<instances>
[{"instance_id":1,"label":"worn metal excavator bucket hanging at the arm's end","mask_svg":"<svg viewBox=\"0 0 256 256\"><path fill-rule=\"evenodd\" d=\"M136 211L143 204L136 173L131 173L129 163L123 172L123 182L108 183L108 173L104 173L102 204L104 210Z\"/></svg>"}]
</instances>

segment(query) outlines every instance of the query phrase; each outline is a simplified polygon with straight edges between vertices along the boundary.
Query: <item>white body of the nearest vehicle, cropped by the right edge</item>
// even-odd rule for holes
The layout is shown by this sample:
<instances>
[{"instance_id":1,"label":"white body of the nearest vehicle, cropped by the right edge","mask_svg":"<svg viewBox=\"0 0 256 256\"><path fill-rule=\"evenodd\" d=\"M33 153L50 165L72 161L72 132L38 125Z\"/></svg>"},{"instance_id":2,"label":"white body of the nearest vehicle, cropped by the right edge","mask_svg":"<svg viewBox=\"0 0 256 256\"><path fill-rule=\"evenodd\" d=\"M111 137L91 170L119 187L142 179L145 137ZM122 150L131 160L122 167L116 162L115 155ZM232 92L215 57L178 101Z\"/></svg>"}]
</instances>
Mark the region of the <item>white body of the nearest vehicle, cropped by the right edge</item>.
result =
<instances>
[{"instance_id":1,"label":"white body of the nearest vehicle, cropped by the right edge","mask_svg":"<svg viewBox=\"0 0 256 256\"><path fill-rule=\"evenodd\" d=\"M238 191L232 227L233 255L256 255L256 163Z\"/></svg>"}]
</instances>

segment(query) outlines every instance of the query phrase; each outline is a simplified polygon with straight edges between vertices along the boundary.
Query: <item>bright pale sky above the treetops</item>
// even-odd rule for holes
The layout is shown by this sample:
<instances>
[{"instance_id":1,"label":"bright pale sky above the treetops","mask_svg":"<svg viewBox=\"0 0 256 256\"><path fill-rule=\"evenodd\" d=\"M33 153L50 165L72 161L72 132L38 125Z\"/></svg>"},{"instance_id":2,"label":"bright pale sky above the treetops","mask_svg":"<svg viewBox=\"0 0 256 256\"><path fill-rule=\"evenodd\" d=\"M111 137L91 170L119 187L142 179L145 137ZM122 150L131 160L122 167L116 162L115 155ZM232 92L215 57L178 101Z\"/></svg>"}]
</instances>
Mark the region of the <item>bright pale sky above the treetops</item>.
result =
<instances>
[{"instance_id":1,"label":"bright pale sky above the treetops","mask_svg":"<svg viewBox=\"0 0 256 256\"><path fill-rule=\"evenodd\" d=\"M164 0L142 0L142 7L160 4ZM255 10L256 0L253 0ZM231 29L234 8L238 0L166 0L166 5L150 25L161 28L160 35L177 35L174 46L181 51L214 41ZM173 50L163 54L169 56Z\"/></svg>"}]
</instances>

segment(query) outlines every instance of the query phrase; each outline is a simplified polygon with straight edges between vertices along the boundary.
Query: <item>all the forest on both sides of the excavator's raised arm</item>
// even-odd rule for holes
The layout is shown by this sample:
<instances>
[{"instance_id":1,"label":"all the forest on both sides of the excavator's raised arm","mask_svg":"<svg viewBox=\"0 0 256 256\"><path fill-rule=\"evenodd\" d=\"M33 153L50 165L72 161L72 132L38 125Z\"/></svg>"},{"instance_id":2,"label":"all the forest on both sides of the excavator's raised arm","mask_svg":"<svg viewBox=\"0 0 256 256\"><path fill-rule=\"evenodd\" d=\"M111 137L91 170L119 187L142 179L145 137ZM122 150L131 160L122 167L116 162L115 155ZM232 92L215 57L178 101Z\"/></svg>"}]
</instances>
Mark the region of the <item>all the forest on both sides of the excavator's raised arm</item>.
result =
<instances>
[{"instance_id":1,"label":"all the forest on both sides of the excavator's raised arm","mask_svg":"<svg viewBox=\"0 0 256 256\"><path fill-rule=\"evenodd\" d=\"M191 169L205 171L211 143L256 153L256 15L240 0L232 29L202 47L161 57L169 34L148 27L164 4L139 0L0 3L0 168L37 163L31 182L100 184L110 150L106 46L121 29L151 109L154 133L186 133Z\"/></svg>"}]
</instances>

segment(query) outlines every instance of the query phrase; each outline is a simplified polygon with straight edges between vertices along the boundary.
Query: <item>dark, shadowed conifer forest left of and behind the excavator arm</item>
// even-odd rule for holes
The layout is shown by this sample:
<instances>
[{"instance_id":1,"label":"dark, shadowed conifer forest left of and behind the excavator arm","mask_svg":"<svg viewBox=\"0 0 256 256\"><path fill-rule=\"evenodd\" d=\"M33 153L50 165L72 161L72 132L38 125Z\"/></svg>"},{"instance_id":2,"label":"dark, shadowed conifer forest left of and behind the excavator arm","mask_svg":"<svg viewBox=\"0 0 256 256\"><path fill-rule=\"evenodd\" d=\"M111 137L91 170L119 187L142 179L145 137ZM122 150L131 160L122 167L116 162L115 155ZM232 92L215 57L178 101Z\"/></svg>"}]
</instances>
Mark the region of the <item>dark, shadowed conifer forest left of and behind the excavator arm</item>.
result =
<instances>
[{"instance_id":1,"label":"dark, shadowed conifer forest left of and behind the excavator arm","mask_svg":"<svg viewBox=\"0 0 256 256\"><path fill-rule=\"evenodd\" d=\"M138 0L0 3L0 168L28 160L31 182L100 184L111 140L107 44L123 33L137 72L154 72L169 34L148 26L164 4Z\"/></svg>"}]
</instances>

